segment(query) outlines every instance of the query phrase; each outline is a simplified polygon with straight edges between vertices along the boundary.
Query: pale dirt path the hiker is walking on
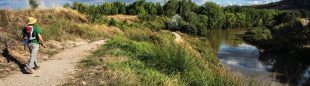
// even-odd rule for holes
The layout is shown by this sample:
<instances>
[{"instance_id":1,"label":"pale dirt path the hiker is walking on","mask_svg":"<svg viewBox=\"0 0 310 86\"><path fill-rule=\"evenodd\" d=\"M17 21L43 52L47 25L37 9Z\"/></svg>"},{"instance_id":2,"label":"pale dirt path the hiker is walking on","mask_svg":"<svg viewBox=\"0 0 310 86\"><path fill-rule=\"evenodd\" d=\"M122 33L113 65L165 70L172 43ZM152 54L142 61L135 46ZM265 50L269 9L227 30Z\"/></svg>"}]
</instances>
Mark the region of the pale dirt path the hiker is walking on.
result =
<instances>
[{"instance_id":1,"label":"pale dirt path the hiker is walking on","mask_svg":"<svg viewBox=\"0 0 310 86\"><path fill-rule=\"evenodd\" d=\"M0 79L0 86L55 86L66 82L69 74L74 73L76 62L90 55L105 40L80 45L72 49L66 49L50 60L40 63L40 69L33 74L17 72L6 78Z\"/></svg>"}]
</instances>

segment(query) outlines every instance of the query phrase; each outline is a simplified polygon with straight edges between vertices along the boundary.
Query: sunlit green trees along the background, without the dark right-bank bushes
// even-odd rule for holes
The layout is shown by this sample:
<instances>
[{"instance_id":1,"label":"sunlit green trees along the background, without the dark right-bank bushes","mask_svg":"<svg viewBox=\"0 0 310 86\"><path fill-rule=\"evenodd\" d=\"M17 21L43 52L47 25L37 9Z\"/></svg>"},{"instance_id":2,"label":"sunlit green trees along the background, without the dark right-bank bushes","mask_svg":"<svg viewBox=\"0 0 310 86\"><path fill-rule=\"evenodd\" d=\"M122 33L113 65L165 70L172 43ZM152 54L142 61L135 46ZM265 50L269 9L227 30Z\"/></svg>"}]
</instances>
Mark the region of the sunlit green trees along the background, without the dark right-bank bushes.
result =
<instances>
[{"instance_id":1,"label":"sunlit green trees along the background, without the dark right-bank bushes","mask_svg":"<svg viewBox=\"0 0 310 86\"><path fill-rule=\"evenodd\" d=\"M278 10L251 7L221 7L213 2L206 2L199 6L191 0L169 0L163 5L145 0L138 0L131 4L119 1L106 2L101 5L74 2L72 8L90 15L93 19L102 15L126 14L139 15L143 20L153 20L155 16L172 17L178 14L182 22L178 27L167 27L167 29L199 36L205 36L208 30L269 26L274 16L281 13Z\"/></svg>"}]
</instances>

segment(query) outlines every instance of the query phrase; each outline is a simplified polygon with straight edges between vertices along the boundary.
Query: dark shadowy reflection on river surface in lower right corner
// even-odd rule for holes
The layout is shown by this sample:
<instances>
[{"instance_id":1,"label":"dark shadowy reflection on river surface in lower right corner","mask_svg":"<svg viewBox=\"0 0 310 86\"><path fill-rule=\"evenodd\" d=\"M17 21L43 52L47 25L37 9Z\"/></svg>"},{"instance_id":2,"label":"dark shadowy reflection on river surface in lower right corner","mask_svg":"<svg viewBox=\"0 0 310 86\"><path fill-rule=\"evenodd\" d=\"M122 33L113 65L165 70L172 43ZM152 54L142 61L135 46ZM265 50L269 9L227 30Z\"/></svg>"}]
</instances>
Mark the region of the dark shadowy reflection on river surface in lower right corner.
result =
<instances>
[{"instance_id":1,"label":"dark shadowy reflection on river surface in lower right corner","mask_svg":"<svg viewBox=\"0 0 310 86\"><path fill-rule=\"evenodd\" d=\"M275 78L281 83L298 86L310 86L309 52L277 54L272 51L260 53L260 60L269 72L279 73Z\"/></svg>"}]
</instances>

